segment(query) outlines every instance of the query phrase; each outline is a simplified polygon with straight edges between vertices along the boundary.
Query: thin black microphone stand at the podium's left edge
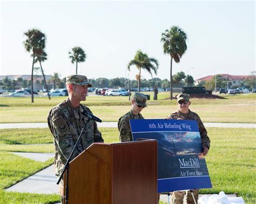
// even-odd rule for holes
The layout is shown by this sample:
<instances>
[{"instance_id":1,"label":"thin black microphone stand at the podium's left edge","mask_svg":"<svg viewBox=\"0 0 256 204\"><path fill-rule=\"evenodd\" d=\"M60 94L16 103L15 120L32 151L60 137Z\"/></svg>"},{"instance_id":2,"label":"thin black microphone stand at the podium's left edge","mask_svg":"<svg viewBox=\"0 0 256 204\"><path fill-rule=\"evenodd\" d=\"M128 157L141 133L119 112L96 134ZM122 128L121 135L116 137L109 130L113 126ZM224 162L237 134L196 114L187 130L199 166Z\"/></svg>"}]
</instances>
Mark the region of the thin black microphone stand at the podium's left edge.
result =
<instances>
[{"instance_id":1,"label":"thin black microphone stand at the podium's left edge","mask_svg":"<svg viewBox=\"0 0 256 204\"><path fill-rule=\"evenodd\" d=\"M76 147L77 147L77 145L78 145L78 142L79 142L79 140L80 140L80 138L81 138L81 136L82 136L82 134L83 134L83 132L84 132L84 130L85 130L85 128L86 128L87 123L90 121L90 119L91 119L91 118L88 117L88 120L86 121L86 123L85 123L85 125L84 125L84 128L83 128L83 130L81 131L81 133L80 133L80 135L79 135L79 137L78 137L78 139L77 139L77 142L76 142L75 146L73 147L73 150L72 150L72 152L71 152L71 154L70 154L68 160L66 161L66 164L65 164L65 166L64 166L64 168L63 168L63 170L62 170L62 173L60 174L59 180L57 181L57 184L59 184L60 180L61 180L62 177L63 177L64 171L66 170L66 186L65 186L65 189L66 189L66 193L65 193L65 203L66 203L66 204L69 203L69 163L70 163L71 157L72 157L72 155L73 155L73 152L75 151L75 149L76 149Z\"/></svg>"}]
</instances>

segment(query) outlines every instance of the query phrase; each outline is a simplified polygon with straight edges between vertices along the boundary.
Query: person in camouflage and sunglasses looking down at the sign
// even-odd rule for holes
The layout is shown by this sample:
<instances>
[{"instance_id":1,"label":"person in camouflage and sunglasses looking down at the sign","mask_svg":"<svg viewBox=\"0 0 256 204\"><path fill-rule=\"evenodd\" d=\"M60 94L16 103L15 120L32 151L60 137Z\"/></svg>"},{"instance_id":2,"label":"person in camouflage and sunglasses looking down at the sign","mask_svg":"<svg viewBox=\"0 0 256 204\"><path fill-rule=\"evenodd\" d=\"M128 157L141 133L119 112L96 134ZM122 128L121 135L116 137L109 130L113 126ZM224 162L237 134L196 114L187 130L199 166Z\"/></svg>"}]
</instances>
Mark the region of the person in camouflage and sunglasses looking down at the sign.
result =
<instances>
[{"instance_id":1,"label":"person in camouflage and sunglasses looking down at the sign","mask_svg":"<svg viewBox=\"0 0 256 204\"><path fill-rule=\"evenodd\" d=\"M146 105L147 96L142 93L135 92L132 96L132 109L118 120L118 130L120 132L119 139L120 142L130 142L132 141L132 132L130 128L129 119L144 119L140 112Z\"/></svg>"}]
</instances>

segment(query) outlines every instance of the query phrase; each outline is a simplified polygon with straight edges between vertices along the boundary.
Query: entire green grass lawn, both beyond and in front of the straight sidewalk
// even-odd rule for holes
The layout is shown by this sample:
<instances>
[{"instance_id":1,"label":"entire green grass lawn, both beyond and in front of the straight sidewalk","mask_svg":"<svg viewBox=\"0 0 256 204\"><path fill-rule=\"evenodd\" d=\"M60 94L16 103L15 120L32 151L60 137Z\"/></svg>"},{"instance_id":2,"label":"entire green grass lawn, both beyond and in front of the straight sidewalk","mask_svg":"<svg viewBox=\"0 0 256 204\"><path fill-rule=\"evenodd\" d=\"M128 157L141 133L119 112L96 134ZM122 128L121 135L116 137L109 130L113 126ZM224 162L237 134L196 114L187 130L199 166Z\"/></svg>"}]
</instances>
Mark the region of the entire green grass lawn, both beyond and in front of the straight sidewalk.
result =
<instances>
[{"instance_id":1,"label":"entire green grass lawn, both beyond and in front of the straight sidewalk","mask_svg":"<svg viewBox=\"0 0 256 204\"><path fill-rule=\"evenodd\" d=\"M145 93L151 94L152 93ZM224 95L224 99L191 99L191 110L204 122L255 123L256 94ZM177 110L176 100L166 100L169 93L160 93L157 101L147 102L145 118L165 118ZM66 97L1 97L0 123L46 122L48 112ZM128 97L89 96L83 102L103 121L118 121L130 110ZM207 128L211 149L206 157L212 189L200 193L237 193L246 203L256 203L255 129ZM100 128L105 143L118 142L118 130ZM9 193L4 189L52 164L25 159L17 152L53 152L53 139L48 129L0 129L0 203L52 203L59 195Z\"/></svg>"}]
</instances>

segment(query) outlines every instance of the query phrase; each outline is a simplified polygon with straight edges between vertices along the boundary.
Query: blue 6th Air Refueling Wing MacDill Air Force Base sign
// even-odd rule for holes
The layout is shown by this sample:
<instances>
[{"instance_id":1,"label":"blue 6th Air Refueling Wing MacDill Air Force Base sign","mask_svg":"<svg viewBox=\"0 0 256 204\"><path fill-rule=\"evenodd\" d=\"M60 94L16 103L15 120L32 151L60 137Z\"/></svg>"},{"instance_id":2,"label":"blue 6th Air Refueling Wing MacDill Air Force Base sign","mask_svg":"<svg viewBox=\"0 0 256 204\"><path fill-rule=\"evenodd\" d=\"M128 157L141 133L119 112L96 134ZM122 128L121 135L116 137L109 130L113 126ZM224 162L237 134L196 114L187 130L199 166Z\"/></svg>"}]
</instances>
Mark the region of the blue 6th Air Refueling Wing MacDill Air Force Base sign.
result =
<instances>
[{"instance_id":1,"label":"blue 6th Air Refueling Wing MacDill Air Force Base sign","mask_svg":"<svg viewBox=\"0 0 256 204\"><path fill-rule=\"evenodd\" d=\"M133 141L158 140L158 193L211 188L196 121L131 119Z\"/></svg>"}]
</instances>

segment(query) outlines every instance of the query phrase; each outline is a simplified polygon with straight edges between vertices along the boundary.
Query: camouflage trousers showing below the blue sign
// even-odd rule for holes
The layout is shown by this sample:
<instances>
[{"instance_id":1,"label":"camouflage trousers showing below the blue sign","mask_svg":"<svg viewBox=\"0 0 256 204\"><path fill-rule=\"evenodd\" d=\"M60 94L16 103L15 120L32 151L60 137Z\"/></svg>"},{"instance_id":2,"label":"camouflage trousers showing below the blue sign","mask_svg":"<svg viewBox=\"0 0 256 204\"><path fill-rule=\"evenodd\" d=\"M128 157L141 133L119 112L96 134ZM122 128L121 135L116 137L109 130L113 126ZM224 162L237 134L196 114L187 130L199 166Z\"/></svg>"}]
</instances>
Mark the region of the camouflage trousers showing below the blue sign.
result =
<instances>
[{"instance_id":1,"label":"camouflage trousers showing below the blue sign","mask_svg":"<svg viewBox=\"0 0 256 204\"><path fill-rule=\"evenodd\" d=\"M194 199L196 200L196 203L198 201L198 195L199 195L199 190L198 189L194 189L191 190L193 195L194 195ZM187 192L187 194L186 194ZM171 193L171 203L174 204L183 204L183 200L184 200L184 196L186 196L186 203L187 204L193 204L194 200L193 200L193 196L191 194L190 191L175 191Z\"/></svg>"}]
</instances>

